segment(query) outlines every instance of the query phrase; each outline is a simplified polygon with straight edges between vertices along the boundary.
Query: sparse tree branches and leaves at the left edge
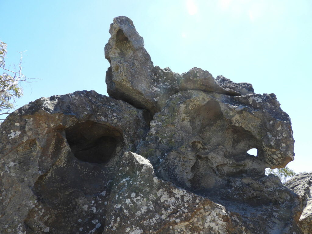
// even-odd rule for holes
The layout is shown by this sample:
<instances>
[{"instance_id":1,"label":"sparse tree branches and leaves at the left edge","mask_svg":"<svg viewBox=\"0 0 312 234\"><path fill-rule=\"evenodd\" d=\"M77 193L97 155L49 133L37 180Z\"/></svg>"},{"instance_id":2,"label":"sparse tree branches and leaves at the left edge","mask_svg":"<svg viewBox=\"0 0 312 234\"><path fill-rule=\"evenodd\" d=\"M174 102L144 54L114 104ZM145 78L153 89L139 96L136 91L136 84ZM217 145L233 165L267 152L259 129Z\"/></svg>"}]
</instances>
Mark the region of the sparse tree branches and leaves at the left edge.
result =
<instances>
[{"instance_id":1,"label":"sparse tree branches and leaves at the left edge","mask_svg":"<svg viewBox=\"0 0 312 234\"><path fill-rule=\"evenodd\" d=\"M23 95L19 84L27 81L27 77L22 74L22 52L18 68L15 71L6 69L5 57L7 54L7 44L0 41L0 115L9 114L8 110L14 108L16 98ZM3 119L2 119L3 120Z\"/></svg>"}]
</instances>

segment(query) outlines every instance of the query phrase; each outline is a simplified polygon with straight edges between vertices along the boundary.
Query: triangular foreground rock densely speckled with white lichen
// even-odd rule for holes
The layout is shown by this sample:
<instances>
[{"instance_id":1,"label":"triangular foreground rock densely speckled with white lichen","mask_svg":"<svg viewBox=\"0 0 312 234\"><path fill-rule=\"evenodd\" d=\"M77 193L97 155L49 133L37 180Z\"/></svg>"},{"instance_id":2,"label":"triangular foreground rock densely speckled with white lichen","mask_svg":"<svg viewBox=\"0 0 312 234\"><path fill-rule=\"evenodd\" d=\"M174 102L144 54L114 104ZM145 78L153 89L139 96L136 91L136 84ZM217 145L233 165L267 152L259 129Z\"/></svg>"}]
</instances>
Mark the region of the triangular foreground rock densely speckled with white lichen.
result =
<instances>
[{"instance_id":1,"label":"triangular foreground rock densely speckled with white lichen","mask_svg":"<svg viewBox=\"0 0 312 234\"><path fill-rule=\"evenodd\" d=\"M159 179L149 160L119 161L103 233L247 233L221 205Z\"/></svg>"}]
</instances>

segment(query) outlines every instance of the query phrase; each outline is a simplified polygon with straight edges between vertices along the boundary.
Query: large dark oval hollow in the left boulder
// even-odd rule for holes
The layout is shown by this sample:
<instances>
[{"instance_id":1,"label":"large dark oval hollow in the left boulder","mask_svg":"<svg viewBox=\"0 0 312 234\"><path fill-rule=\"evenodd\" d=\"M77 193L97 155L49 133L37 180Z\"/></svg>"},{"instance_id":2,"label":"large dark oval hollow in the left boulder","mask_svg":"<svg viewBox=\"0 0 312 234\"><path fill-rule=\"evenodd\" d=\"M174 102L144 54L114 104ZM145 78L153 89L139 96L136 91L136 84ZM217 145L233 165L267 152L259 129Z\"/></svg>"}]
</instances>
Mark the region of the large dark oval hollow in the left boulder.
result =
<instances>
[{"instance_id":1,"label":"large dark oval hollow in the left boulder","mask_svg":"<svg viewBox=\"0 0 312 234\"><path fill-rule=\"evenodd\" d=\"M108 162L123 145L123 137L117 129L93 121L77 123L65 129L65 133L75 157L89 163Z\"/></svg>"}]
</instances>

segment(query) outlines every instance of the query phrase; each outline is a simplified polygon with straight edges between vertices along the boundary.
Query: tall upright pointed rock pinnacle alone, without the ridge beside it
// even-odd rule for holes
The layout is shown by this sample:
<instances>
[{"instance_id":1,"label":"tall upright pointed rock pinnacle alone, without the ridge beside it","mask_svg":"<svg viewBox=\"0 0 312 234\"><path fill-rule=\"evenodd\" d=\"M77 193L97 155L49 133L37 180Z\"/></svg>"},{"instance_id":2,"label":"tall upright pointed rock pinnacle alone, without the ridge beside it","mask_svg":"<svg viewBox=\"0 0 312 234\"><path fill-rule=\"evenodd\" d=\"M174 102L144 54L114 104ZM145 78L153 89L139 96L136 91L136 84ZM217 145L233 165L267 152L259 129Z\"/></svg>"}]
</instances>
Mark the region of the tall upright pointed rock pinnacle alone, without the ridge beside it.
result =
<instances>
[{"instance_id":1,"label":"tall upright pointed rock pinnacle alone, without the ridge beside it","mask_svg":"<svg viewBox=\"0 0 312 234\"><path fill-rule=\"evenodd\" d=\"M124 16L114 18L110 35L105 46L105 58L110 62L106 72L108 94L139 108L154 110L158 89L153 88L154 66L144 49L143 38Z\"/></svg>"}]
</instances>

